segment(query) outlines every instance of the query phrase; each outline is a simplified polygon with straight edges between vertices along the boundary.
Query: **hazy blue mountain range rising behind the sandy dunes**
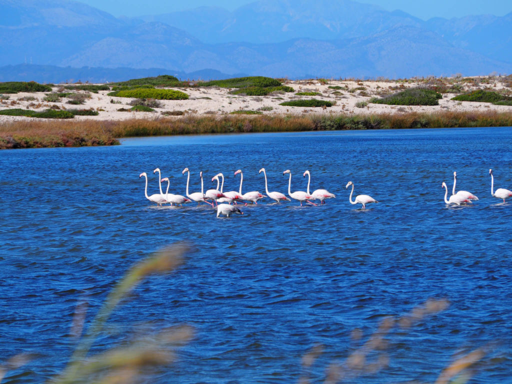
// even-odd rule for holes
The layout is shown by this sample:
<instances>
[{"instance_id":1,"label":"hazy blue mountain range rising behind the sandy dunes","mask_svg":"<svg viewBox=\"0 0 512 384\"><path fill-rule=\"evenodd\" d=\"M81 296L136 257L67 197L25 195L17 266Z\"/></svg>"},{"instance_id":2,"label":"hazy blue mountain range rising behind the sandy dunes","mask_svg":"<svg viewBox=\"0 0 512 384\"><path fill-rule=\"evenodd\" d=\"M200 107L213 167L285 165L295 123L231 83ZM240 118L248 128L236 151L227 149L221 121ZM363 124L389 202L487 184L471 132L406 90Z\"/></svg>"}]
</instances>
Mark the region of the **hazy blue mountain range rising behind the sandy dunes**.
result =
<instances>
[{"instance_id":1,"label":"hazy blue mountain range rising behind the sandy dunes","mask_svg":"<svg viewBox=\"0 0 512 384\"><path fill-rule=\"evenodd\" d=\"M108 80L115 72L107 69L116 68L182 78L512 73L512 12L424 21L351 0L260 0L232 12L201 7L137 18L72 0L0 0L0 10L0 79L7 68L16 76L13 66L25 75L37 69L37 81L50 81L41 66L53 71L51 81L59 67L85 67L82 81Z\"/></svg>"}]
</instances>

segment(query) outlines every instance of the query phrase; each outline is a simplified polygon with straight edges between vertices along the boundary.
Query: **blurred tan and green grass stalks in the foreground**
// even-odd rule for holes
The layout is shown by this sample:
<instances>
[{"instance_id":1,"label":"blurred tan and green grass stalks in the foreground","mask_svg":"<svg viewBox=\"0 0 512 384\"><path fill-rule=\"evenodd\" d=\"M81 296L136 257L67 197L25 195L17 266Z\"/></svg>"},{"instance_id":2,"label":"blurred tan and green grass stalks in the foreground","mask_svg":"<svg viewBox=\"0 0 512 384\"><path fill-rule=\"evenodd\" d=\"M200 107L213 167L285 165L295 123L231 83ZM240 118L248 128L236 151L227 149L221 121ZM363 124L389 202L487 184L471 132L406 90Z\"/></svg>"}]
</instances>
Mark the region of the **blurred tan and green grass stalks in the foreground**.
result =
<instances>
[{"instance_id":1,"label":"blurred tan and green grass stalks in the foreground","mask_svg":"<svg viewBox=\"0 0 512 384\"><path fill-rule=\"evenodd\" d=\"M148 369L165 367L175 361L176 349L184 346L194 336L194 329L190 326L168 327L161 329L156 334L142 333L122 347L114 347L94 355L90 355L89 352L95 340L105 330L106 323L117 305L126 300L130 292L144 279L155 274L172 272L182 265L187 251L189 251L189 247L186 244L178 243L156 252L150 258L132 267L108 295L85 333L83 333L83 328L87 303L80 303L71 326L71 335L79 339L78 345L67 367L59 375L53 377L50 383L130 384L151 382L147 381ZM360 347L350 351L345 361L332 362L326 367L325 378L322 381L324 384L354 381L361 375L375 374L385 369L390 362L388 353L390 342L387 337L393 329L399 328L401 332L407 331L419 321L448 307L449 302L446 300L430 299L403 316L384 318L379 323L377 330L366 340L364 340L361 330L354 329L351 338L355 343L360 344ZM493 349L493 346L486 345L472 351L458 352L454 355L451 364L445 368L441 367L434 384L464 384L468 382L482 367L499 362L499 359L489 357ZM310 384L311 368L322 353L323 347L316 345L304 354L301 361L303 373L298 380L300 384ZM20 353L3 362L0 365L0 382L8 371L16 370L34 358L36 358L34 355ZM418 381L410 383L419 384Z\"/></svg>"}]
</instances>

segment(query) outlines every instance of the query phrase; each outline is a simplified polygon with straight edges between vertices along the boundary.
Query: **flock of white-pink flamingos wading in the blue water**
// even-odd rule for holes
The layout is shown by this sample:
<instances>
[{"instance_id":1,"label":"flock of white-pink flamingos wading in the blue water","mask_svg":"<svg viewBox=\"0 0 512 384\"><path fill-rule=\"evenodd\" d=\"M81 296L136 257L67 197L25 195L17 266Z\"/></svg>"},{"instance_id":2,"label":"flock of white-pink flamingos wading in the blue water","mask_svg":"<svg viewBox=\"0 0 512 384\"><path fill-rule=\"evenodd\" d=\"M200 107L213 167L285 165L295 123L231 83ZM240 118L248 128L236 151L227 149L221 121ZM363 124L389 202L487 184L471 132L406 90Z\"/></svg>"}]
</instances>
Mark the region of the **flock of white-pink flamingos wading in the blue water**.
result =
<instances>
[{"instance_id":1,"label":"flock of white-pink flamingos wading in the blue water","mask_svg":"<svg viewBox=\"0 0 512 384\"><path fill-rule=\"evenodd\" d=\"M212 207L217 206L217 217L220 216L226 216L230 217L232 215L238 214L243 215L243 212L236 206L238 203L244 204L245 206L248 203L251 204L258 204L258 201L268 197L275 201L275 203L280 202L289 202L293 200L296 200L300 203L301 206L303 206L303 203L311 204L313 206L317 206L318 204L314 203L314 200L319 200L320 204L325 204L325 200L327 199L333 199L336 196L332 193L330 193L327 189L315 189L313 193L310 193L309 187L311 183L311 173L309 170L306 170L303 174L303 177L305 178L306 175L308 176L308 185L307 190L296 190L294 192L291 191L291 172L289 169L286 169L283 172L284 175L288 175L288 197L285 194L282 194L277 191L269 191L268 190L268 181L267 181L267 173L265 168L261 168L259 174L263 172L263 175L265 177L265 193L266 195L263 195L260 193L260 191L250 191L246 192L245 194L242 194L242 184L244 181L244 175L242 172L242 169L238 169L236 172L234 172L234 176L237 176L240 174L240 187L238 192L237 191L224 191L224 174L218 173L214 177L211 178L211 182L217 181L217 187L216 189L208 189L206 192L204 191L204 182L203 182L203 172L201 171L199 173L199 177L201 179L201 192L194 192L189 193L189 182L190 182L190 170L188 168L183 169L182 175L187 173L187 183L185 187L185 196L179 195L179 194L171 194L169 193L169 187L170 187L170 180L168 177L162 178L160 168L156 168L153 170L153 174L158 173L158 186L160 193L159 194L153 194L151 196L147 195L147 174L145 172L141 173L139 175L139 178L144 177L145 178L145 188L144 188L144 196L147 200L151 201L152 203L157 204L158 206L162 206L163 204L170 204L170 205L176 205L176 206L182 206L183 204L190 203L190 202L196 202L198 204L200 203L206 203L208 205L211 205ZM512 197L512 191L504 188L498 188L496 191L494 190L494 176L493 176L493 170L489 169L489 175L491 178L490 183L490 193L491 196L503 200L503 203L505 203L505 200L509 197ZM456 192L456 184L457 184L457 172L453 173L453 188L452 188L452 196L448 198L448 187L445 182L442 182L441 187L445 189L444 192L444 202L447 205L465 205L465 204L472 204L473 201L479 200L478 197L466 190L459 190ZM222 178L222 182L220 179ZM167 182L167 187L165 190L165 193L163 193L162 190L162 183ZM349 181L347 185L345 186L345 189L348 189L349 186L352 186L352 190L350 191L349 196L349 202L351 204L361 204L362 209L366 209L367 204L371 203L378 203L377 200L372 198L369 195L357 195L355 197L355 200L352 200L352 195L354 193L354 183L352 181ZM220 187L220 189L219 189Z\"/></svg>"}]
</instances>

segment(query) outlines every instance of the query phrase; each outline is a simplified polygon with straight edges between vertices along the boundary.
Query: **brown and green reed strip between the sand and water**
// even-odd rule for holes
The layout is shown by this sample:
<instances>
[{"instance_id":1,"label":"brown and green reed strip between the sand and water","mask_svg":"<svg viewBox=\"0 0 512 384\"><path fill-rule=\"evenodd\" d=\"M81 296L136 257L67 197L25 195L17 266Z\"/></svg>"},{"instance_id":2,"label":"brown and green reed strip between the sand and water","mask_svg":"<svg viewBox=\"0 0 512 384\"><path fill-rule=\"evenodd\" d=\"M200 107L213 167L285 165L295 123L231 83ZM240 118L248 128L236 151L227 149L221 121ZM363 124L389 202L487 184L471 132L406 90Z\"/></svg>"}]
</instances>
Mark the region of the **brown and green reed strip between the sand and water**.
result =
<instances>
[{"instance_id":1,"label":"brown and green reed strip between the sand and water","mask_svg":"<svg viewBox=\"0 0 512 384\"><path fill-rule=\"evenodd\" d=\"M509 112L339 115L229 115L129 120L13 121L0 125L0 149L115 145L123 137L248 132L512 126Z\"/></svg>"}]
</instances>

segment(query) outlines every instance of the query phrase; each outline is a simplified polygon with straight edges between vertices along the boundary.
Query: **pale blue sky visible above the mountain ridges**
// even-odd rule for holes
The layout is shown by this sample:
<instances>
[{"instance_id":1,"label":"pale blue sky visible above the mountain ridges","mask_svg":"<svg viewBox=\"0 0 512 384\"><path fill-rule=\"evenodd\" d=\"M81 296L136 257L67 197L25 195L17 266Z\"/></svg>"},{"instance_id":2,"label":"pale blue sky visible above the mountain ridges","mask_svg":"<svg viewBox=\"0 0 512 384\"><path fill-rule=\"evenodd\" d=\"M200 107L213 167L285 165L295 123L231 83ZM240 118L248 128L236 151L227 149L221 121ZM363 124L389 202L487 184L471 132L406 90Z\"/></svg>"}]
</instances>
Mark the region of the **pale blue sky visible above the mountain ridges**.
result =
<instances>
[{"instance_id":1,"label":"pale blue sky visible above the mountain ridges","mask_svg":"<svg viewBox=\"0 0 512 384\"><path fill-rule=\"evenodd\" d=\"M114 16L139 16L201 6L219 6L233 10L241 5L251 3L254 0L78 0L81 3L89 4ZM400 9L421 19L431 17L461 17L477 14L494 14L503 16L512 12L512 1L510 0L359 0L360 3L376 4L382 8L393 11Z\"/></svg>"}]
</instances>

